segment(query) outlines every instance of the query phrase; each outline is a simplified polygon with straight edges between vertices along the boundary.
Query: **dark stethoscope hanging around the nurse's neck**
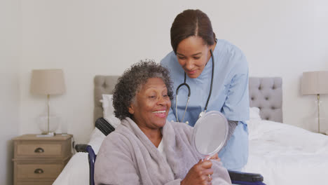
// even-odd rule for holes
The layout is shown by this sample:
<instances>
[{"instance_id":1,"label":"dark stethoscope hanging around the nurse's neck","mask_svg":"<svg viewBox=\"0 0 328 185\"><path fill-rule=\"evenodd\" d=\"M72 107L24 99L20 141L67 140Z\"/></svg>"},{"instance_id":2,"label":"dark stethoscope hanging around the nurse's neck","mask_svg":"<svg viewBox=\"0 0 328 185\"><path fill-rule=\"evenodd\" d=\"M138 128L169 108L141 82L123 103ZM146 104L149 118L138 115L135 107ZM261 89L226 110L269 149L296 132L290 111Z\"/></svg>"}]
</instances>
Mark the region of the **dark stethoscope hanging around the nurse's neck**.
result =
<instances>
[{"instance_id":1,"label":"dark stethoscope hanging around the nurse's neck","mask_svg":"<svg viewBox=\"0 0 328 185\"><path fill-rule=\"evenodd\" d=\"M212 57L212 78L211 78L211 86L210 86L210 93L208 93L208 97L207 97L207 101L206 101L206 104L205 104L205 109L204 111L200 112L198 118L200 118L201 116L203 116L203 114L205 114L205 112L207 111L207 105L208 105L208 102L210 101L210 97L211 97L211 94L212 94L212 86L213 86L213 75L214 75L214 57L213 57L213 53L212 53L212 49L210 49L210 53L211 53L211 57ZM187 99L187 102L186 102L186 109L188 108L188 104L189 104L189 99L190 99L190 94L191 94L191 90L190 90L190 87L188 85L188 83L186 83L186 72L184 72L184 83L180 84L178 87L177 87L177 91L175 93L175 116L177 117L177 122L179 122L179 119L178 119L178 114L177 114L177 95L178 95L178 92L179 92L179 88L181 88L182 86L186 86L188 88L188 99ZM186 114L186 109L184 109L184 115ZM182 117L182 121L184 121L184 116Z\"/></svg>"}]
</instances>

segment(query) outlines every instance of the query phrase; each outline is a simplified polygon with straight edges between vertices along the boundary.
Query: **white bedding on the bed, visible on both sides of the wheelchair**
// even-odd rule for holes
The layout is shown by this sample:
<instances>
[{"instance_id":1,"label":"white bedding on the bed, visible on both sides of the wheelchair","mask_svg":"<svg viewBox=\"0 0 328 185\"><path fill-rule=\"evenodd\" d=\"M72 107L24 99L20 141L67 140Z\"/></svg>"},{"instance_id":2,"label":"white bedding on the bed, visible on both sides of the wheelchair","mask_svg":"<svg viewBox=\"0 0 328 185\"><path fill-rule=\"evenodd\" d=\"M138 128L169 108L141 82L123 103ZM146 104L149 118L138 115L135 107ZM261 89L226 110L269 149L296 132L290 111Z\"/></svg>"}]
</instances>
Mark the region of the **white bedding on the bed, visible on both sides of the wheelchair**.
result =
<instances>
[{"instance_id":1,"label":"white bedding on the bed, visible on both sides of the wheelchair","mask_svg":"<svg viewBox=\"0 0 328 185\"><path fill-rule=\"evenodd\" d=\"M250 153L243 171L262 174L266 184L327 184L327 135L254 118L248 125ZM93 131L89 144L96 153L103 138L99 130ZM87 156L76 153L54 184L89 184Z\"/></svg>"}]
</instances>

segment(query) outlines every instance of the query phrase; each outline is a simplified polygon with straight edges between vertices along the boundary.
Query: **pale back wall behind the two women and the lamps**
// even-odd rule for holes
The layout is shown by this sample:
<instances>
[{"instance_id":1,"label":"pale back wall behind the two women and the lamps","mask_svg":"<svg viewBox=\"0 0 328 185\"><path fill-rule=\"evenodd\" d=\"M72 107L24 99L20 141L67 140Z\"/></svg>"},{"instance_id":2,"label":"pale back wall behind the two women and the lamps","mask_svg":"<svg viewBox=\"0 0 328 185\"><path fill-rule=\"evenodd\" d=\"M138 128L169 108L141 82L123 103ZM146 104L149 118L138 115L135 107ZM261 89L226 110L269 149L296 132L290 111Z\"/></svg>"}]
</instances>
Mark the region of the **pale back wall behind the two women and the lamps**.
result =
<instances>
[{"instance_id":1,"label":"pale back wall behind the two women and the lamps","mask_svg":"<svg viewBox=\"0 0 328 185\"><path fill-rule=\"evenodd\" d=\"M76 142L88 142L93 77L121 74L146 57L160 61L171 50L172 21L186 8L207 13L218 39L244 51L250 76L282 76L284 122L308 128L302 120L315 97L301 96L299 83L303 71L328 70L327 6L324 0L22 1L20 134L39 132L34 117L46 102L29 93L31 70L62 68L67 93L52 97L53 107ZM322 100L328 108L328 97Z\"/></svg>"}]
</instances>

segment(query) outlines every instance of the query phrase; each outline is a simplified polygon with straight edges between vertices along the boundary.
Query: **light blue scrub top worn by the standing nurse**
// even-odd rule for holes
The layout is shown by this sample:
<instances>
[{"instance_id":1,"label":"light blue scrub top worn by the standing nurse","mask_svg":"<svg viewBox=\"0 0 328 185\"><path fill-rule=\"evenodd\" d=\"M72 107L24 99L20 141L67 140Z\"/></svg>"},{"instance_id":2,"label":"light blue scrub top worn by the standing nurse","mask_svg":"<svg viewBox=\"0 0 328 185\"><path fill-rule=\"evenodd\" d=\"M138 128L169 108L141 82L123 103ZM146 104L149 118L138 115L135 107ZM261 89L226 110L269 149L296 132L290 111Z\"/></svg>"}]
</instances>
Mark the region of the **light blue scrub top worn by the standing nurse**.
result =
<instances>
[{"instance_id":1,"label":"light blue scrub top worn by the standing nurse","mask_svg":"<svg viewBox=\"0 0 328 185\"><path fill-rule=\"evenodd\" d=\"M233 135L226 146L219 152L219 158L228 170L237 170L247 163L248 158L248 130L246 122L249 119L248 96L248 64L242 51L228 41L218 40L213 51L214 78L212 95L207 106L207 111L221 111L228 120L239 121ZM168 121L177 121L175 115L175 92L177 86L184 82L184 69L177 61L177 56L172 51L160 62L170 70L173 81L174 100L168 115ZM212 57L207 62L203 72L198 78L186 76L186 83L191 88L191 96L184 116L184 122L195 125L198 115L204 111L207 97L210 93L212 75ZM182 120L188 89L183 86L178 93L178 118Z\"/></svg>"}]
</instances>

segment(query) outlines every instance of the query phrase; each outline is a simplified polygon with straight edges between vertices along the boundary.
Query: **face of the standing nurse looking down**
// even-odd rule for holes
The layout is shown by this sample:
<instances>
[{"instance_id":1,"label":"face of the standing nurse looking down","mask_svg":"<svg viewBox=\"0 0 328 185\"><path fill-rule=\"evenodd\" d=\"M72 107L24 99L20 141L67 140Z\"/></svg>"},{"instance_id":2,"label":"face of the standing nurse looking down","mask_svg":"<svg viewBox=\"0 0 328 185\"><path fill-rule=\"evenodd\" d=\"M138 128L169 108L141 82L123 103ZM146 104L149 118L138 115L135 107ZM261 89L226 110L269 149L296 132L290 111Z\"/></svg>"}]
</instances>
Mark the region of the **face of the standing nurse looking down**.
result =
<instances>
[{"instance_id":1,"label":"face of the standing nurse looking down","mask_svg":"<svg viewBox=\"0 0 328 185\"><path fill-rule=\"evenodd\" d=\"M177 46L177 60L189 78L200 76L210 56L210 47L199 36L189 36Z\"/></svg>"}]
</instances>

